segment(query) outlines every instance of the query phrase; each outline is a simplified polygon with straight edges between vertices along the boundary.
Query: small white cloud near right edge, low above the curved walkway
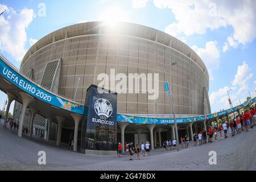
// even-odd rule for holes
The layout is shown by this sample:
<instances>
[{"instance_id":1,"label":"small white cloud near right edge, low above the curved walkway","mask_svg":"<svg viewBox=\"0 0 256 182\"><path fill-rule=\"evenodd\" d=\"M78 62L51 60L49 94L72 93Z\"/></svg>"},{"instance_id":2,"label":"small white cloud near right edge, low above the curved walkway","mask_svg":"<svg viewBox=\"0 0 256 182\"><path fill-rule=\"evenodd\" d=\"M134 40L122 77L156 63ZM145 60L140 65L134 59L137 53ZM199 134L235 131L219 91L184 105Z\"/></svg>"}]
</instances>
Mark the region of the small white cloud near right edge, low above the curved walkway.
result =
<instances>
[{"instance_id":1,"label":"small white cloud near right edge, low above the curved walkway","mask_svg":"<svg viewBox=\"0 0 256 182\"><path fill-rule=\"evenodd\" d=\"M246 61L243 61L242 65L239 65L237 68L237 73L232 82L233 86L239 85L240 89L238 90L238 94L242 93L244 90L248 89L248 81L253 77L253 73L250 72L251 69L249 65L246 64Z\"/></svg>"}]
</instances>

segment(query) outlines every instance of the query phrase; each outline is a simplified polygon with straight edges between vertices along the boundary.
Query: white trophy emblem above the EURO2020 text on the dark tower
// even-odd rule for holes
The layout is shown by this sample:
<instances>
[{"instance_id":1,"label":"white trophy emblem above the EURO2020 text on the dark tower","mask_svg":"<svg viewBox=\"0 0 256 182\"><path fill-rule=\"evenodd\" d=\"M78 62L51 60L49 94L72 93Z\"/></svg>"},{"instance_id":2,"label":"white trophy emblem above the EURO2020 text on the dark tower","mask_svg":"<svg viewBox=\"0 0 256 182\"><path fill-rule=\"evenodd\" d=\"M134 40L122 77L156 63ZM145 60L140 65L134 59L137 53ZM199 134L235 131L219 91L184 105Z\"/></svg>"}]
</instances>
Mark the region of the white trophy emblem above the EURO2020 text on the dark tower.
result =
<instances>
[{"instance_id":1,"label":"white trophy emblem above the EURO2020 text on the dark tower","mask_svg":"<svg viewBox=\"0 0 256 182\"><path fill-rule=\"evenodd\" d=\"M112 115L112 105L104 98L99 98L94 104L94 110L101 119L107 119Z\"/></svg>"}]
</instances>

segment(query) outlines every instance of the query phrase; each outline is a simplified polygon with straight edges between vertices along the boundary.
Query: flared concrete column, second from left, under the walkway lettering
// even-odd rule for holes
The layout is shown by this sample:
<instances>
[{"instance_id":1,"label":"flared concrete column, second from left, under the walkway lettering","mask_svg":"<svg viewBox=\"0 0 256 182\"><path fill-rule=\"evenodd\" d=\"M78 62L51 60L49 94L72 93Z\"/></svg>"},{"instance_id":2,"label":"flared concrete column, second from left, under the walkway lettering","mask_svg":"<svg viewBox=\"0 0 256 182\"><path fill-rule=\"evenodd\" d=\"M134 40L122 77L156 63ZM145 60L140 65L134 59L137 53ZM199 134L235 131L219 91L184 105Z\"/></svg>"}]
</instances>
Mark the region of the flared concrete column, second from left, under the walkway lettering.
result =
<instances>
[{"instance_id":1,"label":"flared concrete column, second from left, under the walkway lettering","mask_svg":"<svg viewBox=\"0 0 256 182\"><path fill-rule=\"evenodd\" d=\"M29 94L24 93L24 92L20 92L19 94L22 97L22 113L20 114L18 136L22 137L22 129L23 129L25 111L27 109L27 106L29 104L31 104L31 102L33 102L35 100L35 98L30 96Z\"/></svg>"}]
</instances>

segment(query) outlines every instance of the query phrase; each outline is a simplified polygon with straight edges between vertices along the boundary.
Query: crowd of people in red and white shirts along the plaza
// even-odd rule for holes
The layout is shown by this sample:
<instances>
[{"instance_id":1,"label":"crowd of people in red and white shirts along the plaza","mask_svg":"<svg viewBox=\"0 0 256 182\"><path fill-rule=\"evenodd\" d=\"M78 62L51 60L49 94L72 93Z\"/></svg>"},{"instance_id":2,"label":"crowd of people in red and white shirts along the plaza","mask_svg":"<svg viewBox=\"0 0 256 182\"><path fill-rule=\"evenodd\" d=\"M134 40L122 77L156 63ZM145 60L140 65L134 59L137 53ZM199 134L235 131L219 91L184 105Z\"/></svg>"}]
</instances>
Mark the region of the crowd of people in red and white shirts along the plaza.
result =
<instances>
[{"instance_id":1,"label":"crowd of people in red and white shirts along the plaza","mask_svg":"<svg viewBox=\"0 0 256 182\"><path fill-rule=\"evenodd\" d=\"M197 146L197 140L199 141L199 145L217 141L218 134L220 134L220 138L228 138L228 131L231 130L232 137L236 134L242 133L243 131L250 131L252 127L255 126L256 122L256 107L251 107L250 109L245 110L243 113L234 115L233 118L230 118L229 121L225 121L223 124L217 126L209 126L209 129L203 128L198 134L193 133L193 145ZM223 135L224 134L224 135ZM189 147L189 137L185 135L185 137L181 137L179 139L179 143L181 147L188 148ZM177 141L174 140L166 140L163 142L164 151L172 150L176 148ZM134 145L133 142L125 143L125 154L129 154L129 160L133 160L133 155L137 154L137 158L141 160L141 156L150 155L150 142L142 142L141 146L139 144ZM118 156L122 156L122 144L118 143Z\"/></svg>"}]
</instances>

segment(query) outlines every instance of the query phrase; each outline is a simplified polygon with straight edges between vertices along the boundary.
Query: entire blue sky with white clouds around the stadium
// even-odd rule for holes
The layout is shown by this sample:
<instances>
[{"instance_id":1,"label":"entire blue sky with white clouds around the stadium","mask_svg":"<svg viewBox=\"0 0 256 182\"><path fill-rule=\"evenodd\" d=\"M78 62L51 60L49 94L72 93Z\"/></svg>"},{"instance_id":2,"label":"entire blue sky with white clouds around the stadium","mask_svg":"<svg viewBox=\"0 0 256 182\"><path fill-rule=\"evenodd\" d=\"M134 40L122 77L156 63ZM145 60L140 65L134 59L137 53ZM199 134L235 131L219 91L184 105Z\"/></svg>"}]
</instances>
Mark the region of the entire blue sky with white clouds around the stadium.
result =
<instances>
[{"instance_id":1,"label":"entire blue sky with white clouds around the stadium","mask_svg":"<svg viewBox=\"0 0 256 182\"><path fill-rule=\"evenodd\" d=\"M233 105L249 91L256 96L254 7L255 1L239 0L0 1L0 11L8 10L0 17L0 52L19 68L31 44L59 28L106 19L143 24L175 36L199 54L210 73L214 112L229 107L230 88ZM1 92L0 98L2 109L6 95Z\"/></svg>"}]
</instances>

